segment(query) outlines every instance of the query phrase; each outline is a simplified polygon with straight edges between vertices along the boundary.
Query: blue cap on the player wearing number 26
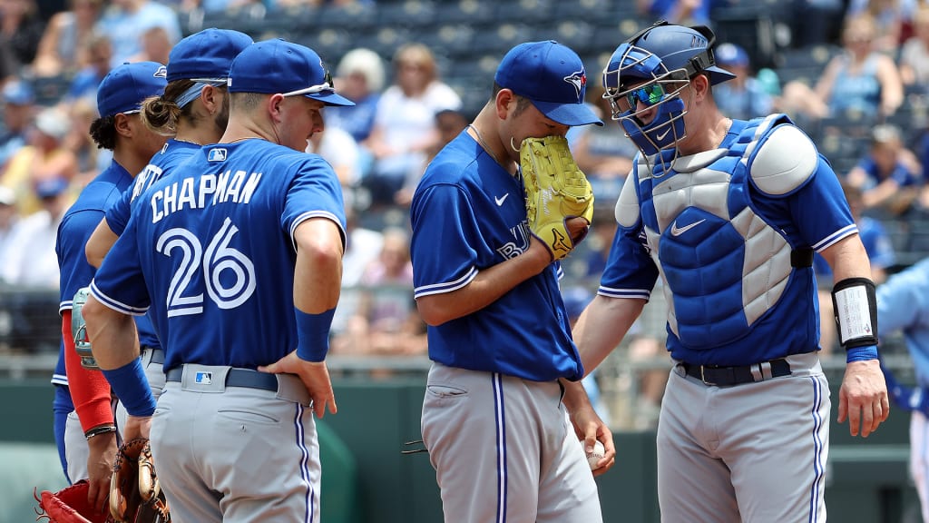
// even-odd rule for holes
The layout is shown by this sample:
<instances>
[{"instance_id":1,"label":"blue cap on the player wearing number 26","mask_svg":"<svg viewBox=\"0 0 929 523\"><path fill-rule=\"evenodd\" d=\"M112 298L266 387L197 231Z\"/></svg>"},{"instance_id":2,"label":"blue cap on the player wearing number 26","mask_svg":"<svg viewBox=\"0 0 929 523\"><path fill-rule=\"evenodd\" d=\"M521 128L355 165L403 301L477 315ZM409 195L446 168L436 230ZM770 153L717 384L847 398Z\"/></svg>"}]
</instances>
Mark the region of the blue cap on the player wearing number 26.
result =
<instances>
[{"instance_id":1,"label":"blue cap on the player wearing number 26","mask_svg":"<svg viewBox=\"0 0 929 523\"><path fill-rule=\"evenodd\" d=\"M320 55L281 38L255 42L239 53L229 71L229 92L303 95L326 105L355 105L335 94Z\"/></svg>"}]
</instances>

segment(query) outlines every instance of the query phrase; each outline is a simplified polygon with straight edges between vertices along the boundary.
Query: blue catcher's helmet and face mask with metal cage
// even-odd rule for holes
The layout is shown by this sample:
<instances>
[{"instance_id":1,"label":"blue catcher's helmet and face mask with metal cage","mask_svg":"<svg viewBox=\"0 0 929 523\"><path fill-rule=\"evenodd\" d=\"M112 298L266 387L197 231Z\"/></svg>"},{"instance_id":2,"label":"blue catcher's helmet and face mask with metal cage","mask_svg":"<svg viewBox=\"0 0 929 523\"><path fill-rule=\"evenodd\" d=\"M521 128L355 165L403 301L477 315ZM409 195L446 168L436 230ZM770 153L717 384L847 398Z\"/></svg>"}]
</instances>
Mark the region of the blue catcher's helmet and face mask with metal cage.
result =
<instances>
[{"instance_id":1,"label":"blue catcher's helmet and face mask with metal cage","mask_svg":"<svg viewBox=\"0 0 929 523\"><path fill-rule=\"evenodd\" d=\"M716 66L710 28L672 25L661 20L613 51L603 71L603 97L626 135L643 154L673 148L687 136L680 93L697 74L711 84L735 78ZM641 105L639 103L641 102ZM639 116L657 106L648 124Z\"/></svg>"}]
</instances>

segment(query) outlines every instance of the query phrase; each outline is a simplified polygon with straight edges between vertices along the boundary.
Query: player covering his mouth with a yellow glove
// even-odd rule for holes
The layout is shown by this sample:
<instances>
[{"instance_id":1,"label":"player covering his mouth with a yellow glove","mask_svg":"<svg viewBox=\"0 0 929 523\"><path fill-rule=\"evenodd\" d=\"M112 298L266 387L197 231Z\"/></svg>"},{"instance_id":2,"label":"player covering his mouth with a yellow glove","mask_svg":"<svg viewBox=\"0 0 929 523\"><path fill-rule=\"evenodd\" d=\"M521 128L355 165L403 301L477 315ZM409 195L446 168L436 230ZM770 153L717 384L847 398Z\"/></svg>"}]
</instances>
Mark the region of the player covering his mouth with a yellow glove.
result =
<instances>
[{"instance_id":1,"label":"player covering his mouth with a yellow glove","mask_svg":"<svg viewBox=\"0 0 929 523\"><path fill-rule=\"evenodd\" d=\"M414 296L428 325L423 440L445 521L601 521L587 446L608 428L579 381L559 265L527 226L524 139L602 123L583 104L580 58L556 42L511 49L491 100L431 162L412 198ZM569 221L572 237L586 229ZM566 411L571 415L572 428ZM577 434L575 432L577 431Z\"/></svg>"}]
</instances>

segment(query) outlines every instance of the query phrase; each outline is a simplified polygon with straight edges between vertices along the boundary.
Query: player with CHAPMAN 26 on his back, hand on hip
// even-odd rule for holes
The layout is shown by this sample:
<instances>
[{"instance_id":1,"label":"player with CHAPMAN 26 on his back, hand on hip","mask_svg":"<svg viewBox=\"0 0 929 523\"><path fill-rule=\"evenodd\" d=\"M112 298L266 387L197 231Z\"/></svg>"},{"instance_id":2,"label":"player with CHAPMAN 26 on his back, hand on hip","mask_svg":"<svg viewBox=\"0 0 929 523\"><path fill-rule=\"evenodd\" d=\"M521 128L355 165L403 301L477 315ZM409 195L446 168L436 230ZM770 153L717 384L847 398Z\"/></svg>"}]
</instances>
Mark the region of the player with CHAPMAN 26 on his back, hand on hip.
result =
<instances>
[{"instance_id":1,"label":"player with CHAPMAN 26 on his back, hand on hip","mask_svg":"<svg viewBox=\"0 0 929 523\"><path fill-rule=\"evenodd\" d=\"M352 102L283 40L242 50L229 96L221 140L150 186L100 266L88 334L125 437L150 432L173 518L318 522L312 415L336 410L324 358L345 214L333 169L303 150L324 106ZM129 319L147 310L165 351L157 410Z\"/></svg>"}]
</instances>

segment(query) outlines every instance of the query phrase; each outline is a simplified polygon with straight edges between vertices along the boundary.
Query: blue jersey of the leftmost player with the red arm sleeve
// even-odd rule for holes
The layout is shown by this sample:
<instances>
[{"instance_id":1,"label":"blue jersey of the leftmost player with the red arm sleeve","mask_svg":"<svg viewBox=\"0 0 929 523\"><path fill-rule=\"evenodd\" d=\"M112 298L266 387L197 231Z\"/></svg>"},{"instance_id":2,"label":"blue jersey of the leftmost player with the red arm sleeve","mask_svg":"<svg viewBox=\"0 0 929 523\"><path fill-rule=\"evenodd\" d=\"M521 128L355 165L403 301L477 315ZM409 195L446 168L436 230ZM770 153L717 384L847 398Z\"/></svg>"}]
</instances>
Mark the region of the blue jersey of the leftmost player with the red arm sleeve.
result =
<instances>
[{"instance_id":1,"label":"blue jersey of the leftmost player with the red arm sleeve","mask_svg":"<svg viewBox=\"0 0 929 523\"><path fill-rule=\"evenodd\" d=\"M79 288L90 285L97 270L87 262L85 246L90 235L103 218L103 209L116 201L120 194L132 184L132 176L123 166L112 162L97 178L87 184L71 208L65 212L59 224L55 253L59 260L59 313L70 311L74 294ZM139 340L158 339L148 318L136 318ZM145 344L145 342L142 342ZM64 344L59 346L59 362L52 382L67 384L64 368Z\"/></svg>"}]
</instances>

